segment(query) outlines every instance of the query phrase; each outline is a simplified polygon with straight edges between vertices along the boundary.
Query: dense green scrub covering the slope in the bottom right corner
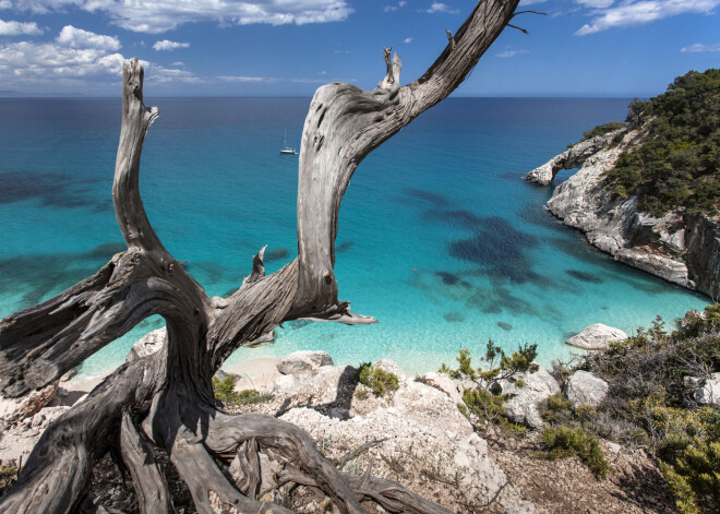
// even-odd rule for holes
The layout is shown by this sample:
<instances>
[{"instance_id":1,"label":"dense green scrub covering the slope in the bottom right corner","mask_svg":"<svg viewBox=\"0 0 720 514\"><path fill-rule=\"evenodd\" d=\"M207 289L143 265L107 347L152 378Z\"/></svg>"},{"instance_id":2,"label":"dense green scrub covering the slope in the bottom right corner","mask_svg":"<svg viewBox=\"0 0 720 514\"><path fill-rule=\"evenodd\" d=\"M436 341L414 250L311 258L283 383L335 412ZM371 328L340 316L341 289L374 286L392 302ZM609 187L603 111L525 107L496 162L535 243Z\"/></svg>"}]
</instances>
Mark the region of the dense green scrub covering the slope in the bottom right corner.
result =
<instances>
[{"instance_id":1,"label":"dense green scrub covering the slope in the bottom right corner","mask_svg":"<svg viewBox=\"0 0 720 514\"><path fill-rule=\"evenodd\" d=\"M589 354L580 368L610 384L608 398L585 413L583 427L647 447L683 514L720 512L720 408L696 396L720 370L720 304L689 313L672 333L658 319L608 351ZM580 417L554 404L548 404L548 421Z\"/></svg>"}]
</instances>

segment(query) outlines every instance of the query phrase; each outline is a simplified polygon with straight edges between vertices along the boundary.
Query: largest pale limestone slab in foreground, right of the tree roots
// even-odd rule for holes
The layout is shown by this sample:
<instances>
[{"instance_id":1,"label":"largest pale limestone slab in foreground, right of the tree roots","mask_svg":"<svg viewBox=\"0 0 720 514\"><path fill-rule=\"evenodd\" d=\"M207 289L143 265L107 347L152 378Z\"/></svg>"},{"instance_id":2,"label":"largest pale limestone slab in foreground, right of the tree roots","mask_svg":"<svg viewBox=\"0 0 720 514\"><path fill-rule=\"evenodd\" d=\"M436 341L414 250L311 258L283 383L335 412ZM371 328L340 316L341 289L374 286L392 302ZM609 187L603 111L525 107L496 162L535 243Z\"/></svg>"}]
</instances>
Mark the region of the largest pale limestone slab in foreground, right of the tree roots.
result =
<instances>
[{"instance_id":1,"label":"largest pale limestone slab in foreground, right of the tree roots","mask_svg":"<svg viewBox=\"0 0 720 514\"><path fill-rule=\"evenodd\" d=\"M448 420L446 415L452 418ZM472 431L449 396L420 382L404 382L392 406L347 420L305 407L290 409L280 419L310 432L335 458L367 442L385 440L346 465L345 471L364 471L368 458L380 465L397 463L417 475L422 469L434 469L448 480L459 477L468 498L478 502L497 495L497 504L505 512L537 512L514 486L505 486L507 477L488 454L485 441Z\"/></svg>"}]
</instances>

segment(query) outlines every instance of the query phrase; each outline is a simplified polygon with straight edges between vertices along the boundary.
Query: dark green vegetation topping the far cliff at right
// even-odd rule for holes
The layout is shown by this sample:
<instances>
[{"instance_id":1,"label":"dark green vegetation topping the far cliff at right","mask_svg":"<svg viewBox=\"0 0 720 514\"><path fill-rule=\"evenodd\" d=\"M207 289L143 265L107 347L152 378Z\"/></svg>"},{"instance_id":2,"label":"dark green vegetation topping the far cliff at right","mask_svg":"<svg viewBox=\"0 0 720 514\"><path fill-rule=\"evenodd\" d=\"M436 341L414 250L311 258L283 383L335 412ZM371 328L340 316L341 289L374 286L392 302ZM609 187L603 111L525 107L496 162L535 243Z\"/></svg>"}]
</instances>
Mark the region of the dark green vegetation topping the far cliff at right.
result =
<instances>
[{"instance_id":1,"label":"dark green vegetation topping the far cliff at right","mask_svg":"<svg viewBox=\"0 0 720 514\"><path fill-rule=\"evenodd\" d=\"M685 207L718 213L720 205L720 70L691 71L668 91L628 107L631 128L645 142L623 153L607 177L616 194L637 194L638 208L662 216Z\"/></svg>"}]
</instances>

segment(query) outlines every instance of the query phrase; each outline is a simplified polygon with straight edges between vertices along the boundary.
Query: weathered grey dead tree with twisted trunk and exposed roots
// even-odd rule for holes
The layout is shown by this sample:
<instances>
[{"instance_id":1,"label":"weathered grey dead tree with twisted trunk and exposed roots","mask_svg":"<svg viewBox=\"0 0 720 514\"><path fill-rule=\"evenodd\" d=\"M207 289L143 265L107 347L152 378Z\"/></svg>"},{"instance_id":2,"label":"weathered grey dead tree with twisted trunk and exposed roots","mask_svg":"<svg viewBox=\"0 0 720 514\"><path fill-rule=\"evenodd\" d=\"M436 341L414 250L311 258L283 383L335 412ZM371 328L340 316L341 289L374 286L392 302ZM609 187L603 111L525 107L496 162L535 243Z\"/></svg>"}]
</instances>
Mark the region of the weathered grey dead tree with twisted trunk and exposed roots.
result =
<instances>
[{"instance_id":1,"label":"weathered grey dead tree with twisted trunk and exposed roots","mask_svg":"<svg viewBox=\"0 0 720 514\"><path fill-rule=\"evenodd\" d=\"M73 512L88 491L94 463L118 442L141 512L171 512L146 440L167 450L201 513L214 512L211 504L228 512L290 512L254 499L257 452L283 457L290 466L286 481L320 488L341 512L365 512L363 500L391 512L446 512L395 482L341 474L292 425L219 411L211 379L236 348L284 321L375 322L338 300L334 244L345 190L370 152L465 80L517 3L480 1L409 85L400 87L400 60L386 49L387 73L373 91L340 83L317 89L300 151L298 258L265 276L261 251L229 298L209 298L163 247L145 215L140 154L158 112L143 105L142 67L135 59L125 63L112 201L128 249L95 275L1 322L0 389L16 397L57 381L153 314L165 319L168 340L160 351L120 366L50 423L16 485L0 499L0 512ZM216 462L238 454L247 463L245 487L231 483Z\"/></svg>"}]
</instances>

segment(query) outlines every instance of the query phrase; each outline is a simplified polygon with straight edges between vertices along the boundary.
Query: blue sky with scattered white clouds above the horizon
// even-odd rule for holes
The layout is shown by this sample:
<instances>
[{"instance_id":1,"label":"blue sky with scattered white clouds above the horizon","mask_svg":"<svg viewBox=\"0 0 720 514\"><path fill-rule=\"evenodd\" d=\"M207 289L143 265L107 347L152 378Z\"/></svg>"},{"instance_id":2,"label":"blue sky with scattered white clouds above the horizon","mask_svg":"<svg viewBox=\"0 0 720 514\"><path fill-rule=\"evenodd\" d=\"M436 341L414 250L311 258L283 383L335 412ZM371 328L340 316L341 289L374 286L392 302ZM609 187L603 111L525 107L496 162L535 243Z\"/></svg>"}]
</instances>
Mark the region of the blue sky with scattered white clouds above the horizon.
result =
<instances>
[{"instance_id":1,"label":"blue sky with scattered white clouds above the horizon","mask_svg":"<svg viewBox=\"0 0 720 514\"><path fill-rule=\"evenodd\" d=\"M0 95L117 96L124 59L148 96L310 96L372 88L383 46L411 82L469 0L0 0ZM651 96L720 61L720 0L524 0L456 96Z\"/></svg>"}]
</instances>

